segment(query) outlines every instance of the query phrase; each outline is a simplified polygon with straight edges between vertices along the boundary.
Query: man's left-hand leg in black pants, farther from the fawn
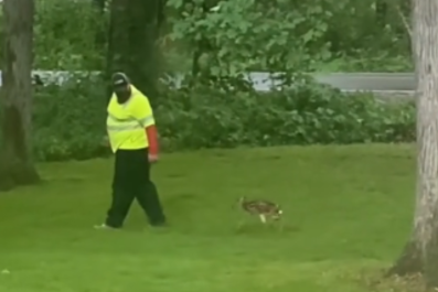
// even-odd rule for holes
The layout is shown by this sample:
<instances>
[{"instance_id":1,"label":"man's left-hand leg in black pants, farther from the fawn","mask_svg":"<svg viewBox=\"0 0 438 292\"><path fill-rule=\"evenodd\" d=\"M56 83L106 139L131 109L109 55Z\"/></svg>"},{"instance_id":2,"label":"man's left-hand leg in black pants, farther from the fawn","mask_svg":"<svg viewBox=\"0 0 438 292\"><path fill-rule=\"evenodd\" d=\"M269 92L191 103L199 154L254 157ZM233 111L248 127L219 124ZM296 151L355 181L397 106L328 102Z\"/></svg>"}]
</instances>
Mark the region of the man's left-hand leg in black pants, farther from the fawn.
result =
<instances>
[{"instance_id":1,"label":"man's left-hand leg in black pants, farther from the fawn","mask_svg":"<svg viewBox=\"0 0 438 292\"><path fill-rule=\"evenodd\" d=\"M135 198L131 190L132 165L130 165L129 152L119 150L116 152L115 171L113 179L113 201L107 213L106 226L120 228L128 215Z\"/></svg>"}]
</instances>

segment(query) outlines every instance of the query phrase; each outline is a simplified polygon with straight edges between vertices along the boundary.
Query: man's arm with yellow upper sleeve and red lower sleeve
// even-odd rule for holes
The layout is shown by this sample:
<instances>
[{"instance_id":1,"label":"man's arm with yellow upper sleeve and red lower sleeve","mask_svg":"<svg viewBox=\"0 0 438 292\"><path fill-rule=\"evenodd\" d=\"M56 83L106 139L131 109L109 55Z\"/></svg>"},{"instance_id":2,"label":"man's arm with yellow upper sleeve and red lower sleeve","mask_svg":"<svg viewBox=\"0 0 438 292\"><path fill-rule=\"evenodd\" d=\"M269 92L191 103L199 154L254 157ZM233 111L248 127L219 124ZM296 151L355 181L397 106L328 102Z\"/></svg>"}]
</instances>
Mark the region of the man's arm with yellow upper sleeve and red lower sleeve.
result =
<instances>
[{"instance_id":1,"label":"man's arm with yellow upper sleeve and red lower sleeve","mask_svg":"<svg viewBox=\"0 0 438 292\"><path fill-rule=\"evenodd\" d=\"M132 115L145 127L146 137L149 142L149 154L158 155L158 131L152 108L147 97L139 97L137 100L136 105L133 105Z\"/></svg>"}]
</instances>

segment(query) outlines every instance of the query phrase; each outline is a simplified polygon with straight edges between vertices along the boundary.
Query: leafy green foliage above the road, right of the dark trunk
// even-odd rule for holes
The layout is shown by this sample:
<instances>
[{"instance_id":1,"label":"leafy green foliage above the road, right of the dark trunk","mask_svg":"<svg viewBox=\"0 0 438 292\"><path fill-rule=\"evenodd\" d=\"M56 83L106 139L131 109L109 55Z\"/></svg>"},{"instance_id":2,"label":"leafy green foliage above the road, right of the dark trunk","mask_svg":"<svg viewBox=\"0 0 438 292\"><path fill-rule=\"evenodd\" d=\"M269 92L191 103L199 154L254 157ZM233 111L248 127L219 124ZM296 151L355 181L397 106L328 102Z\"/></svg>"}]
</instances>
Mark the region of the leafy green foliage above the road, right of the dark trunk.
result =
<instances>
[{"instance_id":1,"label":"leafy green foliage above the road, right of the dark trunk","mask_svg":"<svg viewBox=\"0 0 438 292\"><path fill-rule=\"evenodd\" d=\"M195 52L194 71L210 75L321 71L333 61L344 61L346 71L386 71L393 58L398 71L409 71L409 37L397 3L380 15L377 1L171 0L170 35L190 55Z\"/></svg>"}]
</instances>

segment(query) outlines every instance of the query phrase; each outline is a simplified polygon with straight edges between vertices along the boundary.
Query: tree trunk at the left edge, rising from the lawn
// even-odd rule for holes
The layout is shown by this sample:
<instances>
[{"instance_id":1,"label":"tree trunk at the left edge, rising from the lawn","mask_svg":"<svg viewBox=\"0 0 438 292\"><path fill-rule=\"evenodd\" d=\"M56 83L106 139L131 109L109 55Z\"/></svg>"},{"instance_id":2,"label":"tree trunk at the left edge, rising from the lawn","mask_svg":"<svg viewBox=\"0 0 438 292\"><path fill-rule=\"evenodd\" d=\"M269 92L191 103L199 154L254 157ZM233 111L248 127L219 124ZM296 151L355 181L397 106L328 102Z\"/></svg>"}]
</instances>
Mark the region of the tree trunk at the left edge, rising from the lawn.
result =
<instances>
[{"instance_id":1,"label":"tree trunk at the left edge, rising from the lawn","mask_svg":"<svg viewBox=\"0 0 438 292\"><path fill-rule=\"evenodd\" d=\"M4 0L4 51L0 98L0 191L40 177L31 155L33 0Z\"/></svg>"}]
</instances>

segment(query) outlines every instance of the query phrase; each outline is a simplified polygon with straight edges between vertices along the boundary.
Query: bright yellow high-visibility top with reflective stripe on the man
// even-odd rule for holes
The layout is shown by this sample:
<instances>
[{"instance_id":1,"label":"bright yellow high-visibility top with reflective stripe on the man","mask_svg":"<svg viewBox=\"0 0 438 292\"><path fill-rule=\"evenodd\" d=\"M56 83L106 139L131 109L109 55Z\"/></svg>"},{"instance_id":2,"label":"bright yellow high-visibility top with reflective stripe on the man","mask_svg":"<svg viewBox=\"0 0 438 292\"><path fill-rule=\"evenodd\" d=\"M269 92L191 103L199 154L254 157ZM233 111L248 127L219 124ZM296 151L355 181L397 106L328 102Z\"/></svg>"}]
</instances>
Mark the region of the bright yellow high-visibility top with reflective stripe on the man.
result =
<instances>
[{"instance_id":1,"label":"bright yellow high-visibility top with reflective stripe on the man","mask_svg":"<svg viewBox=\"0 0 438 292\"><path fill-rule=\"evenodd\" d=\"M115 94L108 104L107 132L114 153L118 149L136 150L149 147L145 128L156 123L149 99L131 86L131 96L122 105Z\"/></svg>"}]
</instances>

